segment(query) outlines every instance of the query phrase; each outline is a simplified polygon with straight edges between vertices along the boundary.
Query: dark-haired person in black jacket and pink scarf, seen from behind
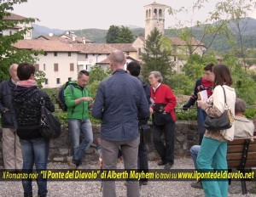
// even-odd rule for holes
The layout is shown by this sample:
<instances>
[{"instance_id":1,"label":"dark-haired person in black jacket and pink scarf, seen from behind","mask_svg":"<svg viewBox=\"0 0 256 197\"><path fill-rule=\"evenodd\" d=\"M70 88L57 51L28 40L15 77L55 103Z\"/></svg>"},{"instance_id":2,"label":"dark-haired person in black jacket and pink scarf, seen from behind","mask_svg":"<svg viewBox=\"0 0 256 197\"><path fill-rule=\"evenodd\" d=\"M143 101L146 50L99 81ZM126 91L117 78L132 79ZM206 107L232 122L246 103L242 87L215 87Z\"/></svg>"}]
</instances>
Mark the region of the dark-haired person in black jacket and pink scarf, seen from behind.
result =
<instances>
[{"instance_id":1,"label":"dark-haired person in black jacket and pink scarf, seen from behind","mask_svg":"<svg viewBox=\"0 0 256 197\"><path fill-rule=\"evenodd\" d=\"M23 156L23 172L31 173L35 164L38 172L38 196L47 195L47 180L43 179L41 171L46 170L49 154L49 139L45 139L39 132L41 119L41 103L44 99L44 106L51 112L55 106L47 93L38 89L34 80L35 67L28 63L21 63L17 69L20 79L17 87L12 90L12 102L15 108L18 124L17 134L20 137L20 144ZM32 196L32 179L22 179L24 196Z\"/></svg>"}]
</instances>

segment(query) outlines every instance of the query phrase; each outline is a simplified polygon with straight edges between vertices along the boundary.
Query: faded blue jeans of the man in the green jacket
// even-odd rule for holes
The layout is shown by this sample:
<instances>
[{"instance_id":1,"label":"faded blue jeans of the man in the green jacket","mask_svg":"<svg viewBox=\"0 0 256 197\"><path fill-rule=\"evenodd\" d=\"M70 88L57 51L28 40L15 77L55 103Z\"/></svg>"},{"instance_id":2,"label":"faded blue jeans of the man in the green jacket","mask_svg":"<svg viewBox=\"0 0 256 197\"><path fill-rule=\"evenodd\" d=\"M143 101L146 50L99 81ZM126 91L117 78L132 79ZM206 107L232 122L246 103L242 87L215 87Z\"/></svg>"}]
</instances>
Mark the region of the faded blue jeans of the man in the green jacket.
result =
<instances>
[{"instance_id":1,"label":"faded blue jeans of the man in the green jacket","mask_svg":"<svg viewBox=\"0 0 256 197\"><path fill-rule=\"evenodd\" d=\"M90 120L68 120L68 129L71 137L73 163L79 166L82 163L86 149L89 149L93 141ZM81 140L81 144L80 133L82 133L84 137Z\"/></svg>"}]
</instances>

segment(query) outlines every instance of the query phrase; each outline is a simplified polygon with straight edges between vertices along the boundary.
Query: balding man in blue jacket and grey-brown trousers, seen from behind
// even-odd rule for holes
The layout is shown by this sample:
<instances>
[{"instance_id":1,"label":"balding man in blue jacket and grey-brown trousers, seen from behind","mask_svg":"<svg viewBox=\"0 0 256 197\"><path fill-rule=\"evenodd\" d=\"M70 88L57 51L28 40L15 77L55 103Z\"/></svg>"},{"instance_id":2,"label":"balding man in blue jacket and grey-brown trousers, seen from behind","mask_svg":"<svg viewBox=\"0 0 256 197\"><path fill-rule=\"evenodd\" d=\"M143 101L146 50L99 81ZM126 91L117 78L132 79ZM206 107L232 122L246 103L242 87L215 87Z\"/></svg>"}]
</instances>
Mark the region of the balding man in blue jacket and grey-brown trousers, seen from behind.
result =
<instances>
[{"instance_id":1,"label":"balding man in blue jacket and grey-brown trousers, seen from behind","mask_svg":"<svg viewBox=\"0 0 256 197\"><path fill-rule=\"evenodd\" d=\"M116 169L119 147L122 150L125 169L137 169L139 145L138 112L144 118L149 115L148 100L143 84L137 77L124 70L125 55L115 50L108 57L113 76L101 82L96 93L92 115L102 120L103 169ZM139 196L139 184L127 181L127 196ZM114 197L115 183L103 181L103 196Z\"/></svg>"}]
</instances>

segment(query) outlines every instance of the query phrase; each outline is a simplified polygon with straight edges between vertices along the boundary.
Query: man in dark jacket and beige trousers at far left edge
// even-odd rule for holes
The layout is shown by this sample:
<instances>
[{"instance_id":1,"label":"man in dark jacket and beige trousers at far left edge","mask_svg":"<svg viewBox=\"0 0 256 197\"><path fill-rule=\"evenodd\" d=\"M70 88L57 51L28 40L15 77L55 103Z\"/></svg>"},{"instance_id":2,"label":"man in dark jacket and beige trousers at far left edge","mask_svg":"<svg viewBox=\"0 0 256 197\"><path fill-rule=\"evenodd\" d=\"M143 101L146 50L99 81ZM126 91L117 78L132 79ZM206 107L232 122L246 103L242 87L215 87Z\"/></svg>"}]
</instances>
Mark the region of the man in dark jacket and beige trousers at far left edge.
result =
<instances>
[{"instance_id":1,"label":"man in dark jacket and beige trousers at far left edge","mask_svg":"<svg viewBox=\"0 0 256 197\"><path fill-rule=\"evenodd\" d=\"M3 165L6 170L22 169L22 154L20 149L20 138L17 136L17 122L15 110L11 104L11 87L15 87L19 81L17 76L18 65L9 67L10 79L0 83L0 112L3 127Z\"/></svg>"}]
</instances>

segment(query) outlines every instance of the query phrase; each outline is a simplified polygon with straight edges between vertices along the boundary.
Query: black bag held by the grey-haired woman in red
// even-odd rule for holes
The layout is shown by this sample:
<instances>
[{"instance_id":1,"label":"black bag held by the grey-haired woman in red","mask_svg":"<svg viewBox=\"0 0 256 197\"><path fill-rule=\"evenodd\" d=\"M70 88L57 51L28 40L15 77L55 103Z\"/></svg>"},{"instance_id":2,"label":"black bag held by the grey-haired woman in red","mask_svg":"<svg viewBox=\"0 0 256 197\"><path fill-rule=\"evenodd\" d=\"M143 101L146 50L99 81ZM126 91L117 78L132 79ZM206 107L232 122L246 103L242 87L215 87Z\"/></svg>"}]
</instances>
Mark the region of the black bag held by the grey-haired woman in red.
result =
<instances>
[{"instance_id":1,"label":"black bag held by the grey-haired woman in red","mask_svg":"<svg viewBox=\"0 0 256 197\"><path fill-rule=\"evenodd\" d=\"M165 107L166 104L154 104L154 124L166 125L173 122L172 115L164 110Z\"/></svg>"}]
</instances>

